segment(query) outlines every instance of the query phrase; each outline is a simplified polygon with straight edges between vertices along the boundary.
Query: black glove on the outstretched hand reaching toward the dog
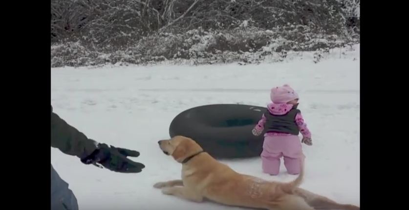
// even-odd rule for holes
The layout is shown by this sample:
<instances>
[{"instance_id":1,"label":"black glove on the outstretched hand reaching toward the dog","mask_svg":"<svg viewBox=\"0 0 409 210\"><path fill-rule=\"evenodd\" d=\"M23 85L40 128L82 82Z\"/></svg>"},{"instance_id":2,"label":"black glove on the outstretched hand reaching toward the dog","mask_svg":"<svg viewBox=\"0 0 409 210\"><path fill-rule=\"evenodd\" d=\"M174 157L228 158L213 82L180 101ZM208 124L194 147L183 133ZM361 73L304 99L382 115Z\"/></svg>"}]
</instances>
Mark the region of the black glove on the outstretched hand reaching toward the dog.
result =
<instances>
[{"instance_id":1,"label":"black glove on the outstretched hand reaching toward the dog","mask_svg":"<svg viewBox=\"0 0 409 210\"><path fill-rule=\"evenodd\" d=\"M123 173L138 173L145 168L144 164L134 162L127 156L137 157L139 152L113 146L108 147L107 144L98 144L98 148L85 158L81 158L81 162L94 165L99 163L111 171Z\"/></svg>"}]
</instances>

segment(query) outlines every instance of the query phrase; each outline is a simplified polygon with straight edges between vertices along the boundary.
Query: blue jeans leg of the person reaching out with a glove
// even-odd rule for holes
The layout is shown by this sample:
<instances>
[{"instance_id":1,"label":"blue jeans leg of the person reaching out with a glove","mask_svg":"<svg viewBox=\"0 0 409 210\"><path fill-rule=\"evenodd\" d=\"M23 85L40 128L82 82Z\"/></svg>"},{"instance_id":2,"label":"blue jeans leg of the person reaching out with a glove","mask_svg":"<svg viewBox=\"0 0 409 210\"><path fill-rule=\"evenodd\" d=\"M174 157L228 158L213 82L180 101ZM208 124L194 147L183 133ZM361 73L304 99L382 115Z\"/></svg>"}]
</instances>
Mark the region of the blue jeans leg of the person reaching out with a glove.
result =
<instances>
[{"instance_id":1,"label":"blue jeans leg of the person reaching out with a glove","mask_svg":"<svg viewBox=\"0 0 409 210\"><path fill-rule=\"evenodd\" d=\"M78 210L77 198L51 165L51 210Z\"/></svg>"}]
</instances>

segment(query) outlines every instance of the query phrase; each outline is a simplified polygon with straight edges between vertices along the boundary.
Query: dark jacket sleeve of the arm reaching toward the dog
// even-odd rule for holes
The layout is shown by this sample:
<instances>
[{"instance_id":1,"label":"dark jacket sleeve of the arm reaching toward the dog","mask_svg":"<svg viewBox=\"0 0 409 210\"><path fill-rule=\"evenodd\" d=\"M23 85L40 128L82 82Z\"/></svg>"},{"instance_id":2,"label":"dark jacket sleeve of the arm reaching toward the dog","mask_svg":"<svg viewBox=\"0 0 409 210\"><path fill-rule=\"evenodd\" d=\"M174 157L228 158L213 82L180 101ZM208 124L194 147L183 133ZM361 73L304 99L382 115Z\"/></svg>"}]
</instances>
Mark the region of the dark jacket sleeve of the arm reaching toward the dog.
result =
<instances>
[{"instance_id":1,"label":"dark jacket sleeve of the arm reaching toward the dog","mask_svg":"<svg viewBox=\"0 0 409 210\"><path fill-rule=\"evenodd\" d=\"M96 148L96 142L86 137L76 128L68 125L57 114L53 113L51 106L51 147L58 148L61 152L75 155L80 158L91 154Z\"/></svg>"}]
</instances>

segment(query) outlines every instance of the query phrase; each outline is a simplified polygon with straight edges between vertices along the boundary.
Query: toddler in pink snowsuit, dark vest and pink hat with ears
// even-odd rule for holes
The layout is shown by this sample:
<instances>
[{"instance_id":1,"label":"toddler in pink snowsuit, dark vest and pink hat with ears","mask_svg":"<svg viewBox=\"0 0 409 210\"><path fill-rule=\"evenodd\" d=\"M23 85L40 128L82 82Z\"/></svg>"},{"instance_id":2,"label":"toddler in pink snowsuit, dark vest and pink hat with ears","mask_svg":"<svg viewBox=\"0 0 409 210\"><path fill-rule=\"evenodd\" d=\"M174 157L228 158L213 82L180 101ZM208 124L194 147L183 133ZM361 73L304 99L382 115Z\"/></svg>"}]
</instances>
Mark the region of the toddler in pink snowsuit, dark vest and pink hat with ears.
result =
<instances>
[{"instance_id":1,"label":"toddler in pink snowsuit, dark vest and pink hat with ears","mask_svg":"<svg viewBox=\"0 0 409 210\"><path fill-rule=\"evenodd\" d=\"M264 142L261 153L263 172L277 175L280 172L280 157L284 156L284 166L290 174L299 174L302 155L298 134L302 143L311 146L311 133L301 116L298 106L298 94L289 86L283 85L271 89L273 103L267 105L252 133L260 135L263 130Z\"/></svg>"}]
</instances>

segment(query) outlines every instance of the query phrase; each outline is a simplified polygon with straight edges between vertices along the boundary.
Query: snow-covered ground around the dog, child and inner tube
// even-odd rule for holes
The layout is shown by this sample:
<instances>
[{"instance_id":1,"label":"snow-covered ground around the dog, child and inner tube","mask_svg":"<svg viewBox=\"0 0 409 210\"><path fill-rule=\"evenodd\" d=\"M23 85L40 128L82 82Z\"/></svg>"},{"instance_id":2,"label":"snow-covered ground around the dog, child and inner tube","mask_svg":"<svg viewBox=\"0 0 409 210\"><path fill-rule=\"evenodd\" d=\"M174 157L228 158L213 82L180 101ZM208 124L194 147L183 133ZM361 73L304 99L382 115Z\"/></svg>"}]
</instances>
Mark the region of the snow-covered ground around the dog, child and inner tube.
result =
<instances>
[{"instance_id":1,"label":"snow-covered ground around the dog, child and inner tube","mask_svg":"<svg viewBox=\"0 0 409 210\"><path fill-rule=\"evenodd\" d=\"M338 53L339 55L339 53ZM163 195L152 185L178 179L181 165L157 144L169 137L180 112L199 105L243 103L265 106L273 86L290 84L312 132L302 145L306 174L302 188L341 203L360 205L359 45L343 57L315 64L293 59L260 65L55 68L51 70L54 112L89 138L141 153L146 168L122 174L84 165L51 148L51 163L74 191L80 210L241 210ZM261 172L259 157L223 160L237 172L266 180L290 181L281 164L278 176Z\"/></svg>"}]
</instances>

